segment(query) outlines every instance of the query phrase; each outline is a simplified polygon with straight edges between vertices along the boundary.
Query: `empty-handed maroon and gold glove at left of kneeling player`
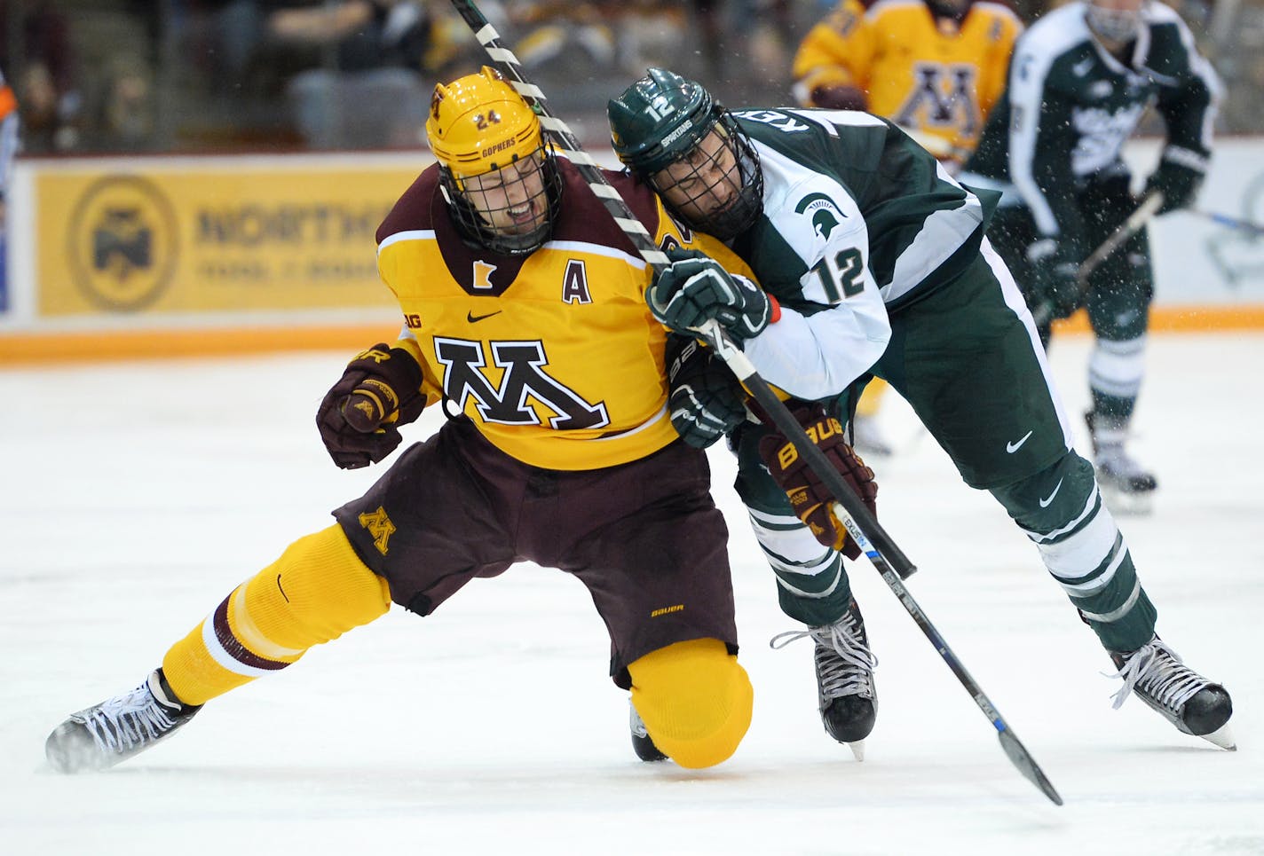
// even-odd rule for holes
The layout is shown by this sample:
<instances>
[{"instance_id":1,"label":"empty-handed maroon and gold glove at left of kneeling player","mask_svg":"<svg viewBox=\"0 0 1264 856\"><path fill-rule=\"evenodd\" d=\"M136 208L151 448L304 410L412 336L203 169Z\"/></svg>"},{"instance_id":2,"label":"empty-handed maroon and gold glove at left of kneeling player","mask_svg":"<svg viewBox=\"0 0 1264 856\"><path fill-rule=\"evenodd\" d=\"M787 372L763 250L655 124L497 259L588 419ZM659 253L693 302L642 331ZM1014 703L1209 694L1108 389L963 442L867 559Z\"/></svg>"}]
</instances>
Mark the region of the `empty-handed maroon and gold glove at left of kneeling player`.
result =
<instances>
[{"instance_id":1,"label":"empty-handed maroon and gold glove at left of kneeling player","mask_svg":"<svg viewBox=\"0 0 1264 856\"><path fill-rule=\"evenodd\" d=\"M421 366L403 348L378 342L358 354L316 412L334 463L358 470L391 455L403 439L398 425L415 420L427 404L421 383Z\"/></svg>"}]
</instances>

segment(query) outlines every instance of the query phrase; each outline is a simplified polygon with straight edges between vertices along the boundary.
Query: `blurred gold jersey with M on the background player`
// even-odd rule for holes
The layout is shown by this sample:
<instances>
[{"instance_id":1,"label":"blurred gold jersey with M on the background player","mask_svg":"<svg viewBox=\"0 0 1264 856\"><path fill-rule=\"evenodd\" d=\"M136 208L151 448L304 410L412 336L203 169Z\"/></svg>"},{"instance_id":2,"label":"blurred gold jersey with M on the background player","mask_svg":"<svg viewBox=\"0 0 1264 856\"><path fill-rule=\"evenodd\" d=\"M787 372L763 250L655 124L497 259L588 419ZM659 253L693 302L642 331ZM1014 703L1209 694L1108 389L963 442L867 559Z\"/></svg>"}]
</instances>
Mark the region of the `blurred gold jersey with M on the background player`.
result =
<instances>
[{"instance_id":1,"label":"blurred gold jersey with M on the background player","mask_svg":"<svg viewBox=\"0 0 1264 856\"><path fill-rule=\"evenodd\" d=\"M854 86L867 110L914 134L940 159L964 160L1005 90L1019 16L976 1L957 20L924 0L843 0L804 37L794 59L795 97L818 86Z\"/></svg>"}]
</instances>

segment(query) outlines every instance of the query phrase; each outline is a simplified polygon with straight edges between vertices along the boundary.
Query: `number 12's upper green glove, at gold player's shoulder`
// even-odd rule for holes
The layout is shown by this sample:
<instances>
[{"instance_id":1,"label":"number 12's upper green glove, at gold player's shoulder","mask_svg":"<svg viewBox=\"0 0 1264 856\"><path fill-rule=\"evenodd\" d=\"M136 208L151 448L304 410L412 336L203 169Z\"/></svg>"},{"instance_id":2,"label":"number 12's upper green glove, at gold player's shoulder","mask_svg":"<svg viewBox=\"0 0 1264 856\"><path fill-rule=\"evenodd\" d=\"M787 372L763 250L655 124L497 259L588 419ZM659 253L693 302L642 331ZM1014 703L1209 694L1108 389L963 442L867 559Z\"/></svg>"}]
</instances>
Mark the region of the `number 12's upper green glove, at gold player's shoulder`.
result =
<instances>
[{"instance_id":1,"label":"number 12's upper green glove, at gold player's shoulder","mask_svg":"<svg viewBox=\"0 0 1264 856\"><path fill-rule=\"evenodd\" d=\"M741 345L772 322L776 304L758 285L724 270L696 250L669 250L669 264L650 285L650 312L665 327L689 333L714 318Z\"/></svg>"}]
</instances>

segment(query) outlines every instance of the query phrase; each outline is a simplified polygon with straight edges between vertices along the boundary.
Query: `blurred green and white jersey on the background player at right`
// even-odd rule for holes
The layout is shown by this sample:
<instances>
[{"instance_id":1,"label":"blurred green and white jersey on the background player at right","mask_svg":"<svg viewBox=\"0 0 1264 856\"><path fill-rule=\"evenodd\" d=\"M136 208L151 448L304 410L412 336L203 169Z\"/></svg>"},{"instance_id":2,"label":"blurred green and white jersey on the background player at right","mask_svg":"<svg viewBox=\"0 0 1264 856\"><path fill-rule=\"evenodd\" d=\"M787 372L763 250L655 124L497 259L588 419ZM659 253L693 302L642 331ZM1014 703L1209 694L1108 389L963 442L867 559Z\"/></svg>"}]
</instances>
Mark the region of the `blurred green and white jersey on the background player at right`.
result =
<instances>
[{"instance_id":1,"label":"blurred green and white jersey on the background player at right","mask_svg":"<svg viewBox=\"0 0 1264 856\"><path fill-rule=\"evenodd\" d=\"M1049 237L1078 240L1077 194L1093 178L1126 174L1125 140L1154 105L1167 126L1163 158L1206 172L1218 83L1189 29L1162 3L1120 62L1093 38L1085 3L1039 19L1014 47L1009 85L961 181L1023 203Z\"/></svg>"}]
</instances>

